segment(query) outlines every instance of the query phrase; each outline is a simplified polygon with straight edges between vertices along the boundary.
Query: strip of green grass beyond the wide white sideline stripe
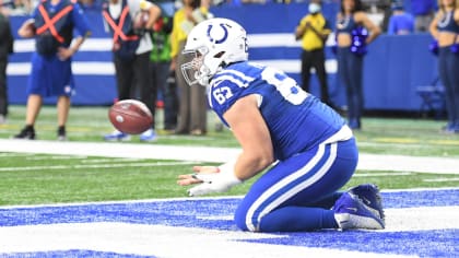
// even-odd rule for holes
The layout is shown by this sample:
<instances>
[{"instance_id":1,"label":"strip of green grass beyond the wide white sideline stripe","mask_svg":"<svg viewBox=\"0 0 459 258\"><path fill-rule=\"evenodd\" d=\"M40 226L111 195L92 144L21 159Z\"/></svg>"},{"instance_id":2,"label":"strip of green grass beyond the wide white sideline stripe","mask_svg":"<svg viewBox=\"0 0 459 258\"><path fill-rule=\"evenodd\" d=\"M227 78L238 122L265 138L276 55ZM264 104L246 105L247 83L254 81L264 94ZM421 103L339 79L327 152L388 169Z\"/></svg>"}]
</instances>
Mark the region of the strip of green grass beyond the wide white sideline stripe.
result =
<instances>
[{"instance_id":1,"label":"strip of green grass beyond the wide white sideline stripe","mask_svg":"<svg viewBox=\"0 0 459 258\"><path fill-rule=\"evenodd\" d=\"M107 118L108 107L72 107L68 122L71 141L102 141L113 130ZM11 106L9 122L0 125L0 138L10 138L23 127L25 108ZM169 136L163 130L162 112L156 113L157 144L238 146L229 130L214 130L216 116L209 112L205 137ZM356 131L360 150L366 153L403 154L416 156L458 156L459 134L443 134L446 121L432 119L364 118L363 130ZM45 106L38 117L36 131L43 140L56 139L56 108ZM139 142L133 137L131 142ZM149 144L149 143L146 143Z\"/></svg>"}]
</instances>

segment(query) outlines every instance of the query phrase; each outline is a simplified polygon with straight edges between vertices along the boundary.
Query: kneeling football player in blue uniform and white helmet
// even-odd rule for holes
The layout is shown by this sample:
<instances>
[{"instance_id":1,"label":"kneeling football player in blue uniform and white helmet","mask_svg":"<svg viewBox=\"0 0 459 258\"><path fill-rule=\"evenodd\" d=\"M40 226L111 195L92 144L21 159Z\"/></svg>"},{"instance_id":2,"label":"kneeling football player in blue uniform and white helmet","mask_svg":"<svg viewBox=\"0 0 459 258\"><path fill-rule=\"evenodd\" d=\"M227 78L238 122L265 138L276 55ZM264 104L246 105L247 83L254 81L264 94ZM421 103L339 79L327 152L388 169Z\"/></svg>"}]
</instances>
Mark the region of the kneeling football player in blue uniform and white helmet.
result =
<instances>
[{"instance_id":1,"label":"kneeling football player in blue uniform and white helmet","mask_svg":"<svg viewBox=\"0 0 459 258\"><path fill-rule=\"evenodd\" d=\"M189 60L181 66L186 81L208 86L210 107L242 146L235 161L179 175L178 185L198 184L190 196L223 192L262 174L235 212L243 231L385 226L375 185L338 191L358 160L345 121L283 71L249 62L247 33L238 23L199 23L183 54Z\"/></svg>"}]
</instances>

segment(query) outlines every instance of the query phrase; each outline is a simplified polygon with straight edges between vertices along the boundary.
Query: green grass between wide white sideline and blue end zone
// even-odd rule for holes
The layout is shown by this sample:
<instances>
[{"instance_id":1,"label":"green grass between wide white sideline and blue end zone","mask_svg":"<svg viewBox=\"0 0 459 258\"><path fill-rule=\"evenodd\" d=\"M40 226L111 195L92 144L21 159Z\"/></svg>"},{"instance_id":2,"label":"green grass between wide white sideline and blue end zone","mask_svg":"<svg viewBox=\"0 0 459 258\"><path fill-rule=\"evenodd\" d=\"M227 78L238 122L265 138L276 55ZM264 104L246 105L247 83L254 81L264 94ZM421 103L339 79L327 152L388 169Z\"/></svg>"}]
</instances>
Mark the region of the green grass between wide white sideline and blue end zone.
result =
<instances>
[{"instance_id":1,"label":"green grass between wide white sideline and blue end zone","mask_svg":"<svg viewBox=\"0 0 459 258\"><path fill-rule=\"evenodd\" d=\"M176 185L175 181L178 174L190 171L190 164L154 160L57 157L59 156L13 153L0 156L0 206L187 196L187 188ZM104 167L114 164L126 166ZM381 175L384 173L358 171L344 188L368 181L378 184L382 189L458 187L459 184L455 180L425 181L438 177L457 178L457 175L396 173L388 178L387 175ZM360 176L363 174L365 176ZM224 195L244 195L255 179Z\"/></svg>"}]
</instances>

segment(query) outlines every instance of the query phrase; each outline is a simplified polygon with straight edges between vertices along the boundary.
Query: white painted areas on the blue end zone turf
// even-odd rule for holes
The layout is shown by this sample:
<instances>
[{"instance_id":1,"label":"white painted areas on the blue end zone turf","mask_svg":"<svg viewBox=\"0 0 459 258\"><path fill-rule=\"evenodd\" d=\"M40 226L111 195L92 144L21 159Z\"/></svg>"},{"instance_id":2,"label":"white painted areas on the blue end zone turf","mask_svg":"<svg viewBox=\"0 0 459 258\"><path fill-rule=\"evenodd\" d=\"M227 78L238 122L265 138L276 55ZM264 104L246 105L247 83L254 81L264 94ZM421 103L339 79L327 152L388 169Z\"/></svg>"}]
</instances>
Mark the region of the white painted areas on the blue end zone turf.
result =
<instances>
[{"instance_id":1,"label":"white painted areas on the blue end zone turf","mask_svg":"<svg viewBox=\"0 0 459 258\"><path fill-rule=\"evenodd\" d=\"M457 230L458 212L459 207L387 209L387 228L374 232ZM227 216L221 216L225 218ZM209 216L209 220L216 219ZM311 257L393 257L384 254L244 242L282 237L285 236L118 222L0 227L1 251L7 254L80 249L180 258L304 257L305 254Z\"/></svg>"}]
</instances>

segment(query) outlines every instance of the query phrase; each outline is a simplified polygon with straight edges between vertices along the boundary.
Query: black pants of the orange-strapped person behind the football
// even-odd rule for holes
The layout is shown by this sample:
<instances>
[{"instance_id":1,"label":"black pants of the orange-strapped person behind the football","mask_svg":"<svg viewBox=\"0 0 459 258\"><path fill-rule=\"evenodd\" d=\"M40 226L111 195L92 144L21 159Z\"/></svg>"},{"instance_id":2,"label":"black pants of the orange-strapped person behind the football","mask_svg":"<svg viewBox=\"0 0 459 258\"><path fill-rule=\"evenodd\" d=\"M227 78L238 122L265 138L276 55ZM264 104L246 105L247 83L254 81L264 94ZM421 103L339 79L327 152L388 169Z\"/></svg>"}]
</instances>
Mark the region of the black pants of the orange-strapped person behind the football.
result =
<instances>
[{"instance_id":1,"label":"black pants of the orange-strapped person behind the football","mask_svg":"<svg viewBox=\"0 0 459 258\"><path fill-rule=\"evenodd\" d=\"M156 107L156 84L152 83L150 51L136 55L132 60L114 56L118 99L139 98L154 115ZM153 116L154 128L154 116Z\"/></svg>"}]
</instances>

